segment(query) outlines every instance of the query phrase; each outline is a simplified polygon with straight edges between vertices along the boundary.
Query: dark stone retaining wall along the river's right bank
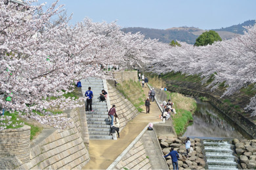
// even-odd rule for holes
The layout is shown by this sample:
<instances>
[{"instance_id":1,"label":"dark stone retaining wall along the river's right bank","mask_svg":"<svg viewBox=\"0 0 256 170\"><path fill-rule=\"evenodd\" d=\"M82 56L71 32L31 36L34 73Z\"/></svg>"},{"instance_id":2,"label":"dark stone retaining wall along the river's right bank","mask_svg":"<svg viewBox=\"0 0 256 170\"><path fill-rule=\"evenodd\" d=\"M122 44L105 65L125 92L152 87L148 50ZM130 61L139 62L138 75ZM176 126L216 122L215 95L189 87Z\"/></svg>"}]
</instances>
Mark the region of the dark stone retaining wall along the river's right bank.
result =
<instances>
[{"instance_id":1,"label":"dark stone retaining wall along the river's right bank","mask_svg":"<svg viewBox=\"0 0 256 170\"><path fill-rule=\"evenodd\" d=\"M213 95L203 92L196 92L195 90L188 90L185 88L175 88L173 86L168 86L170 91L186 94L193 97L207 97L210 103L219 109L226 118L229 118L236 127L239 127L241 131L250 135L253 139L256 138L256 125L247 119L245 116L232 109L221 100L215 98Z\"/></svg>"}]
</instances>

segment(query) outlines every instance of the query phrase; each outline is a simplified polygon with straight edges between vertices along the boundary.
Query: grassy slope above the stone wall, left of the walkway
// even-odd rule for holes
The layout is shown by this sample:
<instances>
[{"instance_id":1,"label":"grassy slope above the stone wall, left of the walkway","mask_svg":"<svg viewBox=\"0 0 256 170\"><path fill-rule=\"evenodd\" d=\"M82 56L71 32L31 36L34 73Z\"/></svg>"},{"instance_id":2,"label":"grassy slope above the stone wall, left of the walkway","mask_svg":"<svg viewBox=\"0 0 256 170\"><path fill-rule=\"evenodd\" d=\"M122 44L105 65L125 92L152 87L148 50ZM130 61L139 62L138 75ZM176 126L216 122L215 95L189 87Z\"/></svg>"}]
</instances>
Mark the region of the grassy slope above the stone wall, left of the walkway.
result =
<instances>
[{"instance_id":1,"label":"grassy slope above the stone wall, left of the walkway","mask_svg":"<svg viewBox=\"0 0 256 170\"><path fill-rule=\"evenodd\" d=\"M142 112L143 109L140 108L141 105L144 105L146 95L140 85L140 82L135 82L133 80L123 81L117 84L117 90L121 92L131 103L136 107L139 112Z\"/></svg>"}]
</instances>

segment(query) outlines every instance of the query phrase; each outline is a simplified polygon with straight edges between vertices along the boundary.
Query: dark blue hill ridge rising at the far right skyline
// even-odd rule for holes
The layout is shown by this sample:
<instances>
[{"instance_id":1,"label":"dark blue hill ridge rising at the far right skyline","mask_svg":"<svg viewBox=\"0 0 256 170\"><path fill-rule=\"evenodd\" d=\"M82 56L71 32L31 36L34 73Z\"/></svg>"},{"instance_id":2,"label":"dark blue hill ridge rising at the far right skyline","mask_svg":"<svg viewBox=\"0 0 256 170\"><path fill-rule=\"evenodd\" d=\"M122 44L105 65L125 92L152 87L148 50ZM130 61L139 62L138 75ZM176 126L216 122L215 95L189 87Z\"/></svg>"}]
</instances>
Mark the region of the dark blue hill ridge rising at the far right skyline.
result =
<instances>
[{"instance_id":1,"label":"dark blue hill ridge rising at the far right skyline","mask_svg":"<svg viewBox=\"0 0 256 170\"><path fill-rule=\"evenodd\" d=\"M232 25L230 27L225 27L225 28L221 28L221 29L212 29L213 31L228 31L231 33L238 33L238 34L244 34L245 28L244 26L253 26L254 24L256 24L255 20L247 20L242 24L238 24L238 25Z\"/></svg>"}]
</instances>

